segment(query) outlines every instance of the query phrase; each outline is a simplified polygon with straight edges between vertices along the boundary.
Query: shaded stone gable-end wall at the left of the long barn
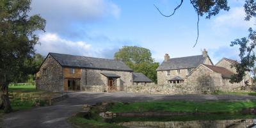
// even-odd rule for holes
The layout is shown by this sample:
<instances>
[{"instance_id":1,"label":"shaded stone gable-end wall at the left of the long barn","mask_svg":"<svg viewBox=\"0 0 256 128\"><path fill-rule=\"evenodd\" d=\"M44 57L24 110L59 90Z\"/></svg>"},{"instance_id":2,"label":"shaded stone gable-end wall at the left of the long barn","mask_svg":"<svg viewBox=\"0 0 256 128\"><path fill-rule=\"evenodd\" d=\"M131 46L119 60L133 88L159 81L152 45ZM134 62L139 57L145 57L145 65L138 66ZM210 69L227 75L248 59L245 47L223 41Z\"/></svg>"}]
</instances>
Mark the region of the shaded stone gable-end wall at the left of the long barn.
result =
<instances>
[{"instance_id":1,"label":"shaded stone gable-end wall at the left of the long barn","mask_svg":"<svg viewBox=\"0 0 256 128\"><path fill-rule=\"evenodd\" d=\"M51 55L45 59L39 74L40 77L36 79L36 88L52 92L63 91L63 68Z\"/></svg>"}]
</instances>

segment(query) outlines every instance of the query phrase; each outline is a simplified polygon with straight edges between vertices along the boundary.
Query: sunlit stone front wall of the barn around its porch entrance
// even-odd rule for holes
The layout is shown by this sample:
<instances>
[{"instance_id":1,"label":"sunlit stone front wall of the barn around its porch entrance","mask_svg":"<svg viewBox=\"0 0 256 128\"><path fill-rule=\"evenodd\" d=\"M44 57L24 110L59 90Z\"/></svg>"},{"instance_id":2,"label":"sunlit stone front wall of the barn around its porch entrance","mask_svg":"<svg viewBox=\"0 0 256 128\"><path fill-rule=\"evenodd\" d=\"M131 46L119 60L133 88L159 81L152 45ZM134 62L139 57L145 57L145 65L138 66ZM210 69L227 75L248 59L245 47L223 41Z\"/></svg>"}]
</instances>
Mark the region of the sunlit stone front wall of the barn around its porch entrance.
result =
<instances>
[{"instance_id":1,"label":"sunlit stone front wall of the barn around its porch entrance","mask_svg":"<svg viewBox=\"0 0 256 128\"><path fill-rule=\"evenodd\" d=\"M92 92L106 92L108 85L108 78L101 73L110 73L120 76L118 90L124 91L127 86L132 85L132 72L126 71L113 71L113 70L96 70L96 69L83 69L81 77L82 90ZM97 87L96 87L97 86ZM101 87L99 87L101 86ZM102 88L102 89L99 89Z\"/></svg>"}]
</instances>

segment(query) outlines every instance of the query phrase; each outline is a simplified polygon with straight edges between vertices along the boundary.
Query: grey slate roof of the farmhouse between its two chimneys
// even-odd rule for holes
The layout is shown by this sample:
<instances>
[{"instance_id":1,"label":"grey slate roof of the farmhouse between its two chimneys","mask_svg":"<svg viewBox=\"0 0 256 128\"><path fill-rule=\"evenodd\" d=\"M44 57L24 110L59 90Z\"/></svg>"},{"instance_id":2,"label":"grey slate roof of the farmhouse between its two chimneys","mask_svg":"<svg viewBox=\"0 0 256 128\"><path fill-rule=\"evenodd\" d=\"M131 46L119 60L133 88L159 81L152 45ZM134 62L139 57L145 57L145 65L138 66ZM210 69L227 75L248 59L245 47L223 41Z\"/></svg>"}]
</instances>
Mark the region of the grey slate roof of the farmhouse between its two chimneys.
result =
<instances>
[{"instance_id":1,"label":"grey slate roof of the farmhouse between its two chimneys","mask_svg":"<svg viewBox=\"0 0 256 128\"><path fill-rule=\"evenodd\" d=\"M203 55L171 58L169 61L163 61L163 63L161 63L161 65L156 70L159 71L182 68L196 68L200 64L204 63L205 59L206 58Z\"/></svg>"}]
</instances>

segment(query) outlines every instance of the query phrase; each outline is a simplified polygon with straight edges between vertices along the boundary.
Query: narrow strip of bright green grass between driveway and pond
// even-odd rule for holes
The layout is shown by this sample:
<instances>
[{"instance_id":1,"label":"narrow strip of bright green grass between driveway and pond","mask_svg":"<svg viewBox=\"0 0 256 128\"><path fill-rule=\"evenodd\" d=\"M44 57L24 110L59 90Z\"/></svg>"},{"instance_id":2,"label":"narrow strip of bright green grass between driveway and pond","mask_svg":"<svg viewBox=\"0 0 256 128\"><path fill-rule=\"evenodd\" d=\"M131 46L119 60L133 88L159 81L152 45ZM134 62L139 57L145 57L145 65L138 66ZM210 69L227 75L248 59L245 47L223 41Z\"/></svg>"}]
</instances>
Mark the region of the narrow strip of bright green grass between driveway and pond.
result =
<instances>
[{"instance_id":1,"label":"narrow strip of bright green grass between driveway and pond","mask_svg":"<svg viewBox=\"0 0 256 128\"><path fill-rule=\"evenodd\" d=\"M114 113L170 111L187 113L236 113L244 108L256 107L256 101L159 101L159 102L133 102L129 104L115 103L109 106Z\"/></svg>"}]
</instances>

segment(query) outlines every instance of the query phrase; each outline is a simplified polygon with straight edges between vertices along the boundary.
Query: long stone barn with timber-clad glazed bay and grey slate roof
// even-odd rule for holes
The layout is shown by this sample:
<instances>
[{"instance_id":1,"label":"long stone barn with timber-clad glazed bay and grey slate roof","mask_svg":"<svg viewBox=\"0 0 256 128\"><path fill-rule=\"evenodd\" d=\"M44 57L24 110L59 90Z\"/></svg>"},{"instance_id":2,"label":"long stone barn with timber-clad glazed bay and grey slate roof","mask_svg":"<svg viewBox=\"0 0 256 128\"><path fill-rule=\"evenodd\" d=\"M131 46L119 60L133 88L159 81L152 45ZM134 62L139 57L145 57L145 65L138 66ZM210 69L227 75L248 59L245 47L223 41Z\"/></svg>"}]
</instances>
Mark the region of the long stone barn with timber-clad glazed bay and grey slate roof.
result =
<instances>
[{"instance_id":1,"label":"long stone barn with timber-clad glazed bay and grey slate roof","mask_svg":"<svg viewBox=\"0 0 256 128\"><path fill-rule=\"evenodd\" d=\"M133 76L132 69L122 61L49 53L36 73L36 88L54 92L123 91L138 82Z\"/></svg>"}]
</instances>

